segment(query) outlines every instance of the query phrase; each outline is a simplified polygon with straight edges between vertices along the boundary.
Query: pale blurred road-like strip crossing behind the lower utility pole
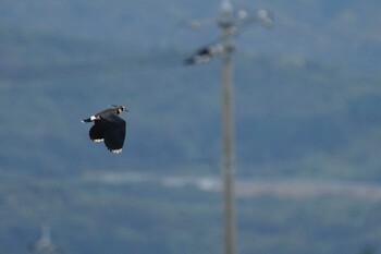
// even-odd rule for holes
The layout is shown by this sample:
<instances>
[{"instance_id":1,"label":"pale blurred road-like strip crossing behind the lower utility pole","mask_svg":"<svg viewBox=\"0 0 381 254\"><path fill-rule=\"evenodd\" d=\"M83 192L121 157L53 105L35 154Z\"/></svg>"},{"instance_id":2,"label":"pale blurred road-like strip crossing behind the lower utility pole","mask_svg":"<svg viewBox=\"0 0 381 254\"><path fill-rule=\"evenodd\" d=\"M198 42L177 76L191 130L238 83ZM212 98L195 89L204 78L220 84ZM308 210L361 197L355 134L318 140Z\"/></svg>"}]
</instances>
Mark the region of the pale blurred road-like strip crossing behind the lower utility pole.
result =
<instances>
[{"instance_id":1,"label":"pale blurred road-like strip crossing behind the lower utility pole","mask_svg":"<svg viewBox=\"0 0 381 254\"><path fill-rule=\"evenodd\" d=\"M97 172L83 176L84 181L103 184L146 184L157 183L163 188L195 188L205 192L221 191L221 179L216 176L159 176L139 172ZM370 182L322 180L322 179L236 179L237 198L260 195L278 197L310 197L322 195L348 195L366 199L381 199L381 185Z\"/></svg>"}]
</instances>

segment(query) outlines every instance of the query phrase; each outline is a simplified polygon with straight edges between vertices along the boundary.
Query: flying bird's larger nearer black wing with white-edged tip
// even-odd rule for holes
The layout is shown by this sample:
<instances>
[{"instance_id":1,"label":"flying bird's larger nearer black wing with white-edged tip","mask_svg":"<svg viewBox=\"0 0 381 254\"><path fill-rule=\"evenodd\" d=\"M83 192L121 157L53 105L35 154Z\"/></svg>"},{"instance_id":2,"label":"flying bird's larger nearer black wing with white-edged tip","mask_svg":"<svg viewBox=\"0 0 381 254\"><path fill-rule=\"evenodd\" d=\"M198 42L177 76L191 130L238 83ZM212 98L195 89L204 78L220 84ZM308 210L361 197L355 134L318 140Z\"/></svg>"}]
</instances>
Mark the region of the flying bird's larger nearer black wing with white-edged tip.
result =
<instances>
[{"instance_id":1,"label":"flying bird's larger nearer black wing with white-edged tip","mask_svg":"<svg viewBox=\"0 0 381 254\"><path fill-rule=\"evenodd\" d=\"M112 153L121 153L125 138L125 121L114 113L100 121L106 125L103 135L106 147Z\"/></svg>"}]
</instances>

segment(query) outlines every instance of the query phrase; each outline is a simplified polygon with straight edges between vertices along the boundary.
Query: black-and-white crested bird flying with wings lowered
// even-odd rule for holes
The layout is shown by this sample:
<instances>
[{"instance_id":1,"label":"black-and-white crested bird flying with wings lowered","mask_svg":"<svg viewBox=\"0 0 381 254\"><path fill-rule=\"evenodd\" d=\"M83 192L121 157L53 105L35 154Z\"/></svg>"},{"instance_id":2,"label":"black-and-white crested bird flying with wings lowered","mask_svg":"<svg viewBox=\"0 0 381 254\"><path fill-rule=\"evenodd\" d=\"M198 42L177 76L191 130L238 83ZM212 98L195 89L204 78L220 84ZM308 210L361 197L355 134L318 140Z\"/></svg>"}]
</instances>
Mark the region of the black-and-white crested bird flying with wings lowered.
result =
<instances>
[{"instance_id":1,"label":"black-and-white crested bird flying with wings lowered","mask_svg":"<svg viewBox=\"0 0 381 254\"><path fill-rule=\"evenodd\" d=\"M114 154L122 153L125 138L125 121L118 114L128 112L124 106L111 106L110 108L100 111L82 122L94 122L89 131L89 136L93 142L105 142L106 147Z\"/></svg>"}]
</instances>

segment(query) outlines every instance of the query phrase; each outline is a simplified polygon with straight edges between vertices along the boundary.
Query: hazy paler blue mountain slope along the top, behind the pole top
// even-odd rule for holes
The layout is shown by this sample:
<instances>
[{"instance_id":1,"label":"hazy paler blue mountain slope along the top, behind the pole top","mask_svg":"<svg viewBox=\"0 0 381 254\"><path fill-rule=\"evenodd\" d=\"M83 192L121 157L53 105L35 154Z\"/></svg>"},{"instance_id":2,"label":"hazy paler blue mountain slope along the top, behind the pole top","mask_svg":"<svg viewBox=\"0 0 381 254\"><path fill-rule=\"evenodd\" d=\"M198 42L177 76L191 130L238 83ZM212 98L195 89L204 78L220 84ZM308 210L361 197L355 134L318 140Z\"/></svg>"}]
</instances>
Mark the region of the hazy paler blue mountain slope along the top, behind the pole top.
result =
<instances>
[{"instance_id":1,"label":"hazy paler blue mountain slope along the top, behind the pole top","mask_svg":"<svg viewBox=\"0 0 381 254\"><path fill-rule=\"evenodd\" d=\"M184 28L190 19L213 21L220 1L45 1L0 2L0 23L27 29L61 33L74 38L122 43L137 50L173 47L197 48L218 38L208 26L192 32ZM234 1L238 11L254 13L268 8L275 27L268 32L253 25L238 39L242 50L274 56L298 56L329 64L378 71L380 66L381 20L376 0Z\"/></svg>"}]
</instances>

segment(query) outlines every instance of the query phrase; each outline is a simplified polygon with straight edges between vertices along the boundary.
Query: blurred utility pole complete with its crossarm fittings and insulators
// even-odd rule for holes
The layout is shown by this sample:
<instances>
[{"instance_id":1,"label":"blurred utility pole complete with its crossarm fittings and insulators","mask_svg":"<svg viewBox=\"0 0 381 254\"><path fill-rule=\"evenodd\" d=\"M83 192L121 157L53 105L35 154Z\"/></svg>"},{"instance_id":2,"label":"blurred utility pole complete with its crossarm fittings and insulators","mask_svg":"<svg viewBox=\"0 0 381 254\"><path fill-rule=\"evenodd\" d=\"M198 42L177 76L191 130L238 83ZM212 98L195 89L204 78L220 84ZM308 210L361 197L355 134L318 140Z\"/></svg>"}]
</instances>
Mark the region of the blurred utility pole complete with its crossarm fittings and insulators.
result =
<instances>
[{"instance_id":1,"label":"blurred utility pole complete with its crossarm fittings and insulators","mask_svg":"<svg viewBox=\"0 0 381 254\"><path fill-rule=\"evenodd\" d=\"M237 25L260 23L272 27L273 17L268 10L259 9L251 16L241 10L237 19L233 15L231 0L222 0L218 25L221 28L221 40L218 44L200 48L185 60L185 64L198 64L210 61L214 57L222 60L222 193L223 193L223 254L236 253L235 229L235 145L234 145L234 85L232 58L235 49L233 37L237 36ZM196 23L192 23L196 24ZM198 23L197 23L198 24Z\"/></svg>"}]
</instances>

